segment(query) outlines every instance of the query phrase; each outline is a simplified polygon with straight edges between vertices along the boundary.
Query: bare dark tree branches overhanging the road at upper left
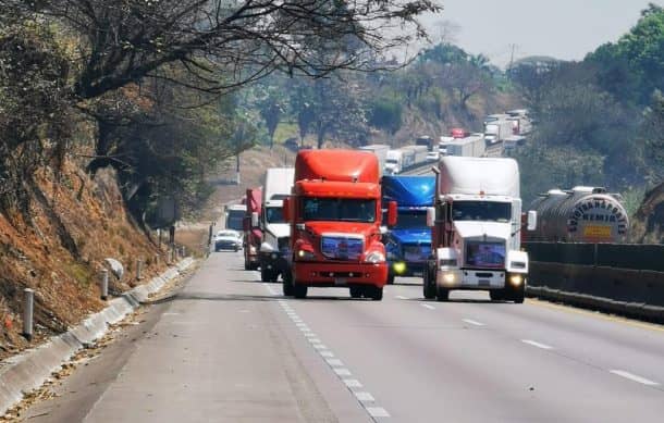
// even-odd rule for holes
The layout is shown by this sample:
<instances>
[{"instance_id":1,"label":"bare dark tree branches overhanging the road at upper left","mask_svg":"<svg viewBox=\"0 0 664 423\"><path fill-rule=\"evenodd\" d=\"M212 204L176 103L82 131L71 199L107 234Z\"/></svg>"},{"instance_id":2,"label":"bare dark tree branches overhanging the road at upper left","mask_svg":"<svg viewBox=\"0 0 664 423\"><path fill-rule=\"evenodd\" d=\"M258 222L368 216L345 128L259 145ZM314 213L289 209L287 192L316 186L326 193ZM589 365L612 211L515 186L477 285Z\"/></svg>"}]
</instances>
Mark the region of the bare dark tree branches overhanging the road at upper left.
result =
<instances>
[{"instance_id":1,"label":"bare dark tree branches overhanging the road at upper left","mask_svg":"<svg viewBox=\"0 0 664 423\"><path fill-rule=\"evenodd\" d=\"M0 8L33 9L79 35L74 91L82 99L145 77L225 92L274 71L367 70L376 54L421 38L417 16L440 10L432 0L0 0ZM321 57L321 46L334 54ZM168 72L169 63L187 78Z\"/></svg>"}]
</instances>

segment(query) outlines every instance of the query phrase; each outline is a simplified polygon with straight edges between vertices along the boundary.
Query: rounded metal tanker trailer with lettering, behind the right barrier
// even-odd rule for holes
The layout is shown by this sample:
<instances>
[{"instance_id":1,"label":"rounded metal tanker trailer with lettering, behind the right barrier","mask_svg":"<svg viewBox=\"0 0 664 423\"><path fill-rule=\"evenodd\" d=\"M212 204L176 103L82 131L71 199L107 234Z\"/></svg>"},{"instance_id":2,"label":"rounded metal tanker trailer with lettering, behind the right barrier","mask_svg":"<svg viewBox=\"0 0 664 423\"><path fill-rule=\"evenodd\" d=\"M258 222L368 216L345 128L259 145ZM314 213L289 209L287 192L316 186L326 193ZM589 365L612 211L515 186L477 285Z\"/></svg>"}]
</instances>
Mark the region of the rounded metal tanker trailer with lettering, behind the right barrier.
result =
<instances>
[{"instance_id":1,"label":"rounded metal tanker trailer with lettering, behind the right barrier","mask_svg":"<svg viewBox=\"0 0 664 423\"><path fill-rule=\"evenodd\" d=\"M604 188L574 187L551 189L529 210L538 213L536 231L526 233L528 241L623 242L629 217L618 194Z\"/></svg>"}]
</instances>

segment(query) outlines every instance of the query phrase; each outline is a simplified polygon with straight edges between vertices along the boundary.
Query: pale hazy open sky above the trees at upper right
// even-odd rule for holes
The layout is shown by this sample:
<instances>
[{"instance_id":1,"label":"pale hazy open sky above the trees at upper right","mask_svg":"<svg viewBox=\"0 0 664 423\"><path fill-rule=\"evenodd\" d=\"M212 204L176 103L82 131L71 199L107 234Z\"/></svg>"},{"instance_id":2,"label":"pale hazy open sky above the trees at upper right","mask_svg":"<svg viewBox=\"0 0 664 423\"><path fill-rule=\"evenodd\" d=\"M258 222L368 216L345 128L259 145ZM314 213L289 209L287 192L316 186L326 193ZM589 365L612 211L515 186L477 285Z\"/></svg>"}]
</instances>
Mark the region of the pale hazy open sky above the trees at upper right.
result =
<instances>
[{"instance_id":1,"label":"pale hazy open sky above the trees at upper right","mask_svg":"<svg viewBox=\"0 0 664 423\"><path fill-rule=\"evenodd\" d=\"M638 21L649 2L661 0L439 0L441 15L423 22L433 38L436 23L458 26L455 43L466 51L483 53L505 66L512 45L515 59L552 55L581 60L607 41L617 40Z\"/></svg>"}]
</instances>

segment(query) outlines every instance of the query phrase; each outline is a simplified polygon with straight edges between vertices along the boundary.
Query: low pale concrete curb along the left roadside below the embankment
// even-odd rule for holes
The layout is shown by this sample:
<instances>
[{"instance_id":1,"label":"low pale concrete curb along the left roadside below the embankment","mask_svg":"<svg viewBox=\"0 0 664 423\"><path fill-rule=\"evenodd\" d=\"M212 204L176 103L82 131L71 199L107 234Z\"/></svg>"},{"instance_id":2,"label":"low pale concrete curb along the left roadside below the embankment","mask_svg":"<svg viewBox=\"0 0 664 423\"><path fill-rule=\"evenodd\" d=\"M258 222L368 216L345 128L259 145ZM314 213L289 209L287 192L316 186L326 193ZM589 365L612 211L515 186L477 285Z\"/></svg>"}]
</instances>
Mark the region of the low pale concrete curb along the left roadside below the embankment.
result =
<instances>
[{"instance_id":1,"label":"low pale concrete curb along the left roadside below the embankment","mask_svg":"<svg viewBox=\"0 0 664 423\"><path fill-rule=\"evenodd\" d=\"M83 321L71 331L52 337L48 343L12 357L0 369L0 415L23 399L24 393L38 388L76 351L103 336L109 325L120 322L134 309L157 293L165 283L194 264L187 258L152 278L146 285L109 301L108 307Z\"/></svg>"}]
</instances>

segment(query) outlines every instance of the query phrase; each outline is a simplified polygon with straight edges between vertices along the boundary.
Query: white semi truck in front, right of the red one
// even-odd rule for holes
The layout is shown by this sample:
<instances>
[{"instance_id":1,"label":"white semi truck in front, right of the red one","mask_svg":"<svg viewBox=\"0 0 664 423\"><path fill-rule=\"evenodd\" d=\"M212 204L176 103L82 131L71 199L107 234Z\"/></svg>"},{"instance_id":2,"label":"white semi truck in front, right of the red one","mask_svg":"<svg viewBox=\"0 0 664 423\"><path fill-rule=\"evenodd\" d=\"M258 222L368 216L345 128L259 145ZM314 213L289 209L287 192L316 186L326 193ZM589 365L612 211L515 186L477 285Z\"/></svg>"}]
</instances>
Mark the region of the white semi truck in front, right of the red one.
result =
<instances>
[{"instance_id":1,"label":"white semi truck in front, right of the red one","mask_svg":"<svg viewBox=\"0 0 664 423\"><path fill-rule=\"evenodd\" d=\"M427 210L432 257L425 298L489 290L492 300L524 302L528 253L520 250L519 169L513 159L441 158L434 204ZM534 229L537 213L528 213Z\"/></svg>"}]
</instances>

